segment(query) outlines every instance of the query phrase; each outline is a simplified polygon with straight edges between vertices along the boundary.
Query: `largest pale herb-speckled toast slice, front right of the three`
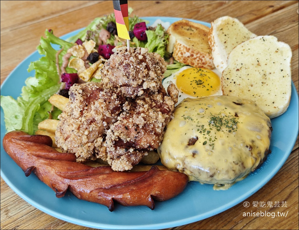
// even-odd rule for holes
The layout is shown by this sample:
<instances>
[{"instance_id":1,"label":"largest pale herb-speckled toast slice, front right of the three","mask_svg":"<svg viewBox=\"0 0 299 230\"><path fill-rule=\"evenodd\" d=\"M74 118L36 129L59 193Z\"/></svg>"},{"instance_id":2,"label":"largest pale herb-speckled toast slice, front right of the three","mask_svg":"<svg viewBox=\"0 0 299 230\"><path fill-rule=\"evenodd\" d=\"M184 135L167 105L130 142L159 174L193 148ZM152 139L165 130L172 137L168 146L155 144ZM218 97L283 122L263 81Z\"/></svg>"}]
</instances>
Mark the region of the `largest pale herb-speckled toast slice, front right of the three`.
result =
<instances>
[{"instance_id":1,"label":"largest pale herb-speckled toast slice, front right of the three","mask_svg":"<svg viewBox=\"0 0 299 230\"><path fill-rule=\"evenodd\" d=\"M254 101L269 118L284 112L291 99L292 50L274 36L257 36L237 45L222 72L223 95Z\"/></svg>"}]
</instances>

